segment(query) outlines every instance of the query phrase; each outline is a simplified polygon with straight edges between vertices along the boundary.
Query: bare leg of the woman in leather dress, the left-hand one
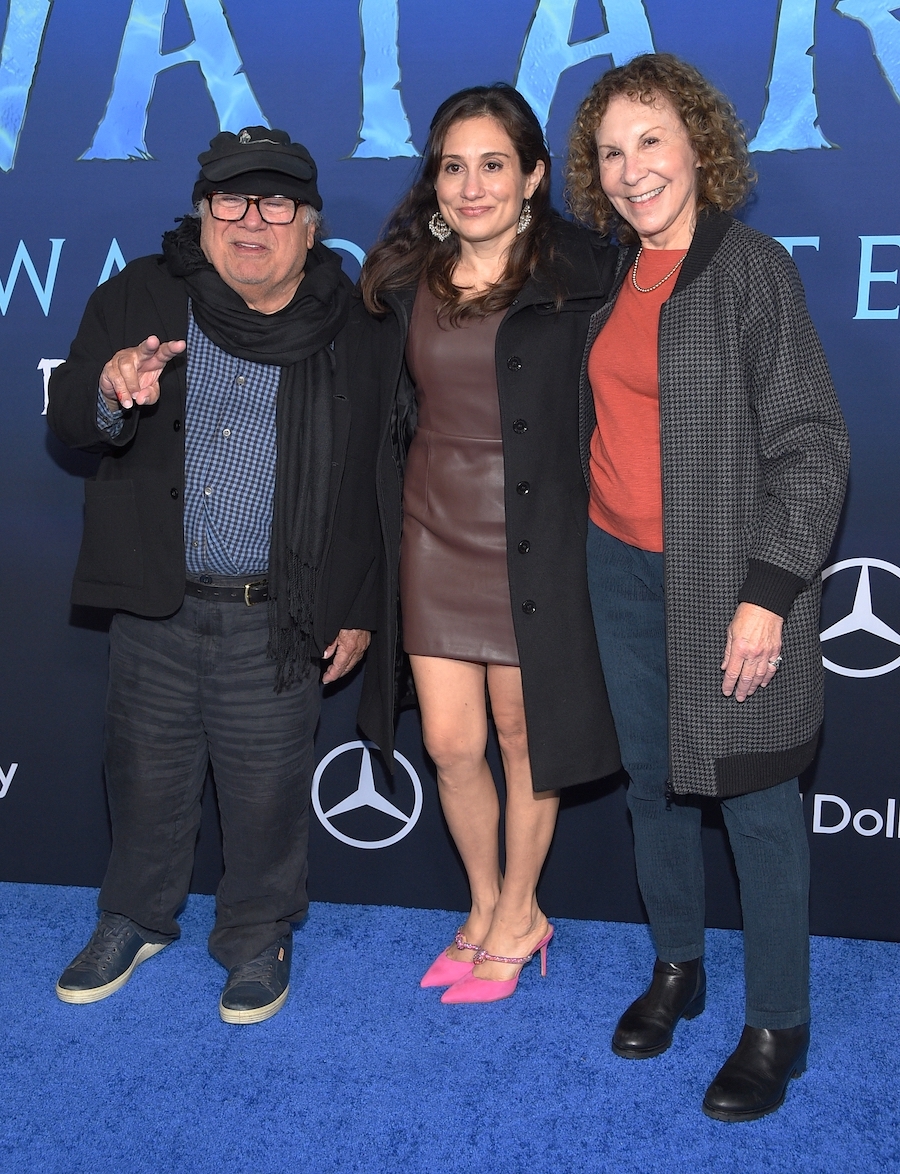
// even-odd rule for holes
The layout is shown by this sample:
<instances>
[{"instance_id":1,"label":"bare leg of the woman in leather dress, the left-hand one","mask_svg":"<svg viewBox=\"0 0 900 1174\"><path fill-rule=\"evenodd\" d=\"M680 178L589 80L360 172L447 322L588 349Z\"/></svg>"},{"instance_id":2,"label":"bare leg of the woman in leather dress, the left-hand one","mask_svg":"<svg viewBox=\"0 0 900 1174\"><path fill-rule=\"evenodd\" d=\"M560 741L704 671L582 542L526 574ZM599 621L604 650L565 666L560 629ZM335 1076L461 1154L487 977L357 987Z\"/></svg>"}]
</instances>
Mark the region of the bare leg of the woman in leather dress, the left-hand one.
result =
<instances>
[{"instance_id":1,"label":"bare leg of the woman in leather dress, the left-hand one","mask_svg":"<svg viewBox=\"0 0 900 1174\"><path fill-rule=\"evenodd\" d=\"M472 911L467 942L483 943L500 897L500 803L485 758L485 666L438 656L411 656L425 748L438 771L444 816L468 876ZM516 670L514 670L516 672ZM455 962L471 951L447 950ZM509 967L506 967L509 970Z\"/></svg>"}]
</instances>

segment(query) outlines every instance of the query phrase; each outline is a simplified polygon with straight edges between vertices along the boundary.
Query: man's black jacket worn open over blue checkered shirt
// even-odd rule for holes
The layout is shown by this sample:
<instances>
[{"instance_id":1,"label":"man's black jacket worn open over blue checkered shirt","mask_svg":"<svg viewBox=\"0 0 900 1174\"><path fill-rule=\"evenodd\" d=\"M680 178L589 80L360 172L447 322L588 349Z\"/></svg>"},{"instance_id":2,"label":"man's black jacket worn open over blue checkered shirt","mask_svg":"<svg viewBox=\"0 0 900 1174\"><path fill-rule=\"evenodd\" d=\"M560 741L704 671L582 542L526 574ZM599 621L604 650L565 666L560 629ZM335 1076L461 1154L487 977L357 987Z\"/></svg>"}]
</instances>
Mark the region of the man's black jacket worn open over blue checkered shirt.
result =
<instances>
[{"instance_id":1,"label":"man's black jacket worn open over blue checkered shirt","mask_svg":"<svg viewBox=\"0 0 900 1174\"><path fill-rule=\"evenodd\" d=\"M378 404L358 394L356 352L377 329L354 301L334 340L331 525L314 623L319 652L341 627L373 628L383 551L373 493ZM114 439L96 425L97 384L116 351L149 335L187 337L188 297L160 256L141 257L90 297L69 357L50 379L47 418L67 445L102 453L84 484L84 535L73 603L171 615L184 596L187 357L167 364L160 399L126 413Z\"/></svg>"}]
</instances>

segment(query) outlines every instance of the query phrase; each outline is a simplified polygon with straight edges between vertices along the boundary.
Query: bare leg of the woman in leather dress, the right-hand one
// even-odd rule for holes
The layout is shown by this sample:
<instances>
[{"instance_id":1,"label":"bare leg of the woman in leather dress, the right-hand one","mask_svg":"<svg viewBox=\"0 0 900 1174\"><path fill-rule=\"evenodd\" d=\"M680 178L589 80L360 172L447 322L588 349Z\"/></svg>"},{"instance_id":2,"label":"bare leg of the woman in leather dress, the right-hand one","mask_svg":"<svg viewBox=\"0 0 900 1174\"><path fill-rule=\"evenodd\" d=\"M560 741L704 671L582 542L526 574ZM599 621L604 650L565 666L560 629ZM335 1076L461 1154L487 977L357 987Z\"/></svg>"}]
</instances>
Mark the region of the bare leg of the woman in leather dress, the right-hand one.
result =
<instances>
[{"instance_id":1,"label":"bare leg of the woman in leather dress, the right-hand one","mask_svg":"<svg viewBox=\"0 0 900 1174\"><path fill-rule=\"evenodd\" d=\"M506 872L481 944L488 953L521 958L548 930L535 890L556 826L560 796L532 789L521 672L488 664L487 682L506 774ZM513 978L515 972L515 966L495 962L481 963L475 971L486 979Z\"/></svg>"}]
</instances>

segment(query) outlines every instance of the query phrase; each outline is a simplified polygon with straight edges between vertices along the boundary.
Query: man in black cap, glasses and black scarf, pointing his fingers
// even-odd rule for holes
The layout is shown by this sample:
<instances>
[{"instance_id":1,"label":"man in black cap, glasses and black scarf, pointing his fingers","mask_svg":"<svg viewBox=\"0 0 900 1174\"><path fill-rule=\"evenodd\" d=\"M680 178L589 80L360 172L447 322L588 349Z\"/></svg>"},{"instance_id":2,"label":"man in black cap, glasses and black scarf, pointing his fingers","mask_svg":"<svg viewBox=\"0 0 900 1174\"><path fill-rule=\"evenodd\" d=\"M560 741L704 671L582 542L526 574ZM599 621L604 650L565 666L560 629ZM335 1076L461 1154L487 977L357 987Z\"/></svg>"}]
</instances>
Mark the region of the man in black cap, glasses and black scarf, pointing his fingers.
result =
<instances>
[{"instance_id":1,"label":"man in black cap, glasses and black scarf, pointing his fingers","mask_svg":"<svg viewBox=\"0 0 900 1174\"><path fill-rule=\"evenodd\" d=\"M375 627L378 407L354 394L370 328L316 241L309 151L248 127L199 162L196 215L95 291L50 382L53 431L102 452L73 602L115 610L113 852L56 993L107 998L178 937L211 762L219 1013L258 1023L307 906L316 667L343 676Z\"/></svg>"}]
</instances>

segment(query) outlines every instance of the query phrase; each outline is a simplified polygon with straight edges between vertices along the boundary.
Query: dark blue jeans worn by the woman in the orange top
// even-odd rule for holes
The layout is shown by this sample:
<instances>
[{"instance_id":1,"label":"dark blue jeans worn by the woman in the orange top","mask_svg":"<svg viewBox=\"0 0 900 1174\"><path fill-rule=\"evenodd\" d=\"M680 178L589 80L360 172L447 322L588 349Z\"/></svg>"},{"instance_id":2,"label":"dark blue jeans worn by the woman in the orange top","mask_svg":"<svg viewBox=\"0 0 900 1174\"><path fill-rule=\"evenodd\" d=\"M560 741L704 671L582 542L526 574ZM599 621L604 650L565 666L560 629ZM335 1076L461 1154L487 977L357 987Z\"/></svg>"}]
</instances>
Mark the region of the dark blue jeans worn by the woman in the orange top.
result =
<instances>
[{"instance_id":1,"label":"dark blue jeans worn by the woman in the orange top","mask_svg":"<svg viewBox=\"0 0 900 1174\"><path fill-rule=\"evenodd\" d=\"M668 681L663 555L588 531L588 582L622 761L641 896L663 962L703 954L698 802L666 802ZM723 647L725 633L722 633ZM810 848L796 778L720 799L740 882L746 1023L810 1018Z\"/></svg>"}]
</instances>

